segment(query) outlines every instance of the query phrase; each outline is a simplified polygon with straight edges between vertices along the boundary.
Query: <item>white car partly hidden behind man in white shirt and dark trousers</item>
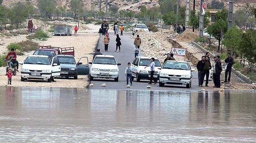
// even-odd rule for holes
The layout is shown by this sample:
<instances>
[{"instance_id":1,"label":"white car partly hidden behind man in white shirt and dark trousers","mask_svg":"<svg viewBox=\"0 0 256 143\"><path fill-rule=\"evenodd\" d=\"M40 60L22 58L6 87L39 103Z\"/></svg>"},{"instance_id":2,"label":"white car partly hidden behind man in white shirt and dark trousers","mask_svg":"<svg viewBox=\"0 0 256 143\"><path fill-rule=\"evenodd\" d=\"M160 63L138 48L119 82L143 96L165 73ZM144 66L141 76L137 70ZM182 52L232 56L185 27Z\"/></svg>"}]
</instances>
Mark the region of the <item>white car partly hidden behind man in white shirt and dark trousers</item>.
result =
<instances>
[{"instance_id":1,"label":"white car partly hidden behind man in white shirt and dark trousers","mask_svg":"<svg viewBox=\"0 0 256 143\"><path fill-rule=\"evenodd\" d=\"M131 64L132 67L132 79L136 78L137 82L140 82L141 79L150 80L150 67L147 67L151 63L151 57L141 57L138 56L134 59ZM159 69L160 68L160 69ZM157 58L155 58L155 73L154 81L159 80L159 72L161 70L161 63Z\"/></svg>"}]
</instances>

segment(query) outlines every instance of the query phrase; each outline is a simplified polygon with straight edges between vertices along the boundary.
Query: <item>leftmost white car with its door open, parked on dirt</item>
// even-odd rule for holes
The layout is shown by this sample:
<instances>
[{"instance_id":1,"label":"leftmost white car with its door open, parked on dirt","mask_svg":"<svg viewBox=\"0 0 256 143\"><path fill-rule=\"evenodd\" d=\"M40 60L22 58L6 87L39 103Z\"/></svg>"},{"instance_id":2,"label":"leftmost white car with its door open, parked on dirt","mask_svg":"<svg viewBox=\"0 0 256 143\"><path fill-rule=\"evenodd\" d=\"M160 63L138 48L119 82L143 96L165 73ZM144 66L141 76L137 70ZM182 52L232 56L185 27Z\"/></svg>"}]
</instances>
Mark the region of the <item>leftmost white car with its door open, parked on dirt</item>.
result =
<instances>
[{"instance_id":1,"label":"leftmost white car with its door open, parked on dirt","mask_svg":"<svg viewBox=\"0 0 256 143\"><path fill-rule=\"evenodd\" d=\"M52 77L60 76L60 62L58 57L50 59L45 55L30 55L22 63L21 81L28 79L45 79L49 83Z\"/></svg>"}]
</instances>

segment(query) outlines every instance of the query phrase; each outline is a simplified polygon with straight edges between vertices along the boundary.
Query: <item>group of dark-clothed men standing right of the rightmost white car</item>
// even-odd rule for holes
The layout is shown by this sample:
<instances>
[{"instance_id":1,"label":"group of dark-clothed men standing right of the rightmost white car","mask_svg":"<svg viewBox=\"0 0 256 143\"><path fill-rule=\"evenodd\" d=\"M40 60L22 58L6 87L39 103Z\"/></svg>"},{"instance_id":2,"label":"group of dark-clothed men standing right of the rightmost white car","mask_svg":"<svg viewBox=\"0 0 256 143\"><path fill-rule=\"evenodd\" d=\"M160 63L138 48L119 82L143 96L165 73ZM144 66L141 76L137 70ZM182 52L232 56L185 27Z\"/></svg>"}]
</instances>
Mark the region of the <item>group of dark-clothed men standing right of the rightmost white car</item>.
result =
<instances>
[{"instance_id":1,"label":"group of dark-clothed men standing right of the rightmost white car","mask_svg":"<svg viewBox=\"0 0 256 143\"><path fill-rule=\"evenodd\" d=\"M204 77L206 77L205 86L208 87L209 79L210 79L210 71L213 68L213 88L220 88L220 74L222 72L222 64L220 61L220 56L215 56L214 62L211 65L210 62L210 53L207 52L205 56L202 56L202 59L198 61L196 68L198 70L198 86L202 87L204 83ZM225 80L224 83L230 82L232 66L234 63L234 59L231 57L231 53L228 53L228 57L225 59L226 67L225 67Z\"/></svg>"}]
</instances>

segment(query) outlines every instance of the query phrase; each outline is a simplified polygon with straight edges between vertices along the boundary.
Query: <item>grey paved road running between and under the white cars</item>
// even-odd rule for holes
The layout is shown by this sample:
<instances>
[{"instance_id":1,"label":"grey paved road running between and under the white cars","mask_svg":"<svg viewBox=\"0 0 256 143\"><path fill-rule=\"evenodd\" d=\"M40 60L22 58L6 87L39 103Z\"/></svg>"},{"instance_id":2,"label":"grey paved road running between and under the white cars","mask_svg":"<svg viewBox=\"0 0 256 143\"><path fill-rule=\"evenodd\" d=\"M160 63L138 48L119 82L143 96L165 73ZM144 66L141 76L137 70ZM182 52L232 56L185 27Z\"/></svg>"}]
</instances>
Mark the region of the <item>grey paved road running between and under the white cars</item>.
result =
<instances>
[{"instance_id":1,"label":"grey paved road running between and under the white cars","mask_svg":"<svg viewBox=\"0 0 256 143\"><path fill-rule=\"evenodd\" d=\"M116 90L125 90L126 88L126 76L124 74L125 68L127 66L127 62L133 62L134 60L134 45L133 45L133 39L131 39L131 33L124 33L123 36L121 36L121 51L115 52L116 48L116 36L114 33L110 33L110 44L108 46L108 51L105 52L104 50L104 44L103 44L103 37L101 36L99 39L98 49L101 49L101 53L104 55L114 55L116 58L116 61L118 63L121 63L121 66L119 66L119 81L114 82L114 79L93 79L91 83L94 84L93 87L90 87L92 89L102 89L101 84L105 83L107 86L106 89L116 89ZM141 54L139 56L142 56ZM198 80L197 80L197 72L193 72L193 79L192 79L192 87L190 89L185 88L185 86L179 86L179 85L166 85L165 87L159 87L159 84L152 84L151 89L153 90L200 90L198 87ZM140 83L137 83L136 81L133 82L133 86L131 86L130 89L133 90L144 90L147 89L146 86L148 86L147 80L142 80Z\"/></svg>"}]
</instances>

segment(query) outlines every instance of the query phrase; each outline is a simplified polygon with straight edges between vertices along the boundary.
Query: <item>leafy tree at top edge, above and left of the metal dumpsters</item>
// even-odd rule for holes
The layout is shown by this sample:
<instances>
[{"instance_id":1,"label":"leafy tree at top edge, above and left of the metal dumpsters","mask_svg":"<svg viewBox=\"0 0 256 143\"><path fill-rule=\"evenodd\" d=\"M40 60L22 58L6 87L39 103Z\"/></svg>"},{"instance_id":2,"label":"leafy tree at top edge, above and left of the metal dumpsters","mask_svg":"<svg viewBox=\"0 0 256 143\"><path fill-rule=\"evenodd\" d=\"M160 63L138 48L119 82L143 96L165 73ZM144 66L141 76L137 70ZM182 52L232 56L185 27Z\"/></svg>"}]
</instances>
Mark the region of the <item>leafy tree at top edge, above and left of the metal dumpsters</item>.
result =
<instances>
[{"instance_id":1,"label":"leafy tree at top edge, above and left of the metal dumpsters","mask_svg":"<svg viewBox=\"0 0 256 143\"><path fill-rule=\"evenodd\" d=\"M48 16L49 19L51 19L52 13L54 13L56 6L53 0L39 0L38 8L42 13Z\"/></svg>"}]
</instances>

